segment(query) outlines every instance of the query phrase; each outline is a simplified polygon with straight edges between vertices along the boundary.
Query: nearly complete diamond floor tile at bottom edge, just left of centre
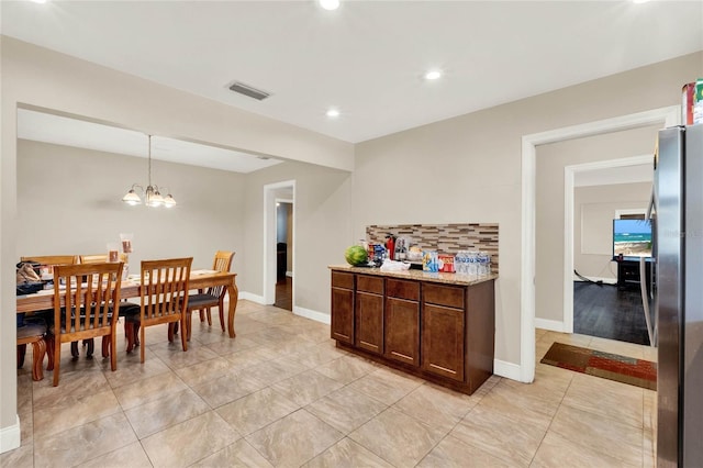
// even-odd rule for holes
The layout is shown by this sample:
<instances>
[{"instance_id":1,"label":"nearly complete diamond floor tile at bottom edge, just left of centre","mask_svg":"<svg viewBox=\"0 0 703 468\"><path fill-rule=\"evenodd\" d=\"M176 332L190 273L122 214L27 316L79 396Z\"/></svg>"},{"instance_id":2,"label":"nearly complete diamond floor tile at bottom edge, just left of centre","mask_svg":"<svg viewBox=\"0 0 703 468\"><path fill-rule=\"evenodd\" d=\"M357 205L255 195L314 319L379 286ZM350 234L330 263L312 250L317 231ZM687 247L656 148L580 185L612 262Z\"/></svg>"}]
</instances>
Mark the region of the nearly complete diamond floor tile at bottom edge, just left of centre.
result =
<instances>
[{"instance_id":1,"label":"nearly complete diamond floor tile at bottom edge, just left of centre","mask_svg":"<svg viewBox=\"0 0 703 468\"><path fill-rule=\"evenodd\" d=\"M276 467L299 467L342 439L344 435L305 410L248 435L252 444Z\"/></svg>"}]
</instances>

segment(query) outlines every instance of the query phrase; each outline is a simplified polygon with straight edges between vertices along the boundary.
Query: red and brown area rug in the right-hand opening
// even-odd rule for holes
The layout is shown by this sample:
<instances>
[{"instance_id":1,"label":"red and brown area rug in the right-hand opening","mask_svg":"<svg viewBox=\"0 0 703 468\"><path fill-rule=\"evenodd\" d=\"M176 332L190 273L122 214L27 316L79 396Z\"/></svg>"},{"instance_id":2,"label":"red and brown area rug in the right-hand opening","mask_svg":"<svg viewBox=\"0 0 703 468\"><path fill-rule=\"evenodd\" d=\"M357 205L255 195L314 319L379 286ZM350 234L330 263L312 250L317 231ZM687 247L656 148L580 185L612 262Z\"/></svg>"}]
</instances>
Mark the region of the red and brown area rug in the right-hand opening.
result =
<instances>
[{"instance_id":1,"label":"red and brown area rug in the right-hand opening","mask_svg":"<svg viewBox=\"0 0 703 468\"><path fill-rule=\"evenodd\" d=\"M657 390L657 364L649 360L554 343L540 363Z\"/></svg>"}]
</instances>

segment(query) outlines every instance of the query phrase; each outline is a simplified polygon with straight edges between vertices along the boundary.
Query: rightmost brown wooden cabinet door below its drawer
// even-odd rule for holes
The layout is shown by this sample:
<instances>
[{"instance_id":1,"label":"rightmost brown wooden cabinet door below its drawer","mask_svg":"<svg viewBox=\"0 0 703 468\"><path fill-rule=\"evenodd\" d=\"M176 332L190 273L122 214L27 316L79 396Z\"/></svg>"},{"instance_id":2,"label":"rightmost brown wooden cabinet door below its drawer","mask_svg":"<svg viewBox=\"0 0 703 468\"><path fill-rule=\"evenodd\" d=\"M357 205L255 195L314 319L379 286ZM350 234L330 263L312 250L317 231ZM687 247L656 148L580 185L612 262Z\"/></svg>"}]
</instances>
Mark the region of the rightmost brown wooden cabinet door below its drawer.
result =
<instances>
[{"instance_id":1,"label":"rightmost brown wooden cabinet door below its drawer","mask_svg":"<svg viewBox=\"0 0 703 468\"><path fill-rule=\"evenodd\" d=\"M464 381L464 310L423 304L422 368Z\"/></svg>"}]
</instances>

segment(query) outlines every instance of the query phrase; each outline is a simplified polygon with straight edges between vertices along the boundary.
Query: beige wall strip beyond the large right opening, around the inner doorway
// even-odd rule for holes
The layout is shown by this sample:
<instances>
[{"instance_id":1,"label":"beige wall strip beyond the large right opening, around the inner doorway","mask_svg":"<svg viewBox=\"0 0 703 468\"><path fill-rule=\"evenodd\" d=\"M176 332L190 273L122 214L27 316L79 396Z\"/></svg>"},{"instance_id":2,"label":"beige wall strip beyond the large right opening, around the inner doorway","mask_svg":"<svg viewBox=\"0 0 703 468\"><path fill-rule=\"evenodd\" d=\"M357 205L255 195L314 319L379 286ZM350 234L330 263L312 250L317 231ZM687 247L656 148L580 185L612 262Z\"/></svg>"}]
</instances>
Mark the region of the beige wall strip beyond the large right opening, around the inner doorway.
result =
<instances>
[{"instance_id":1,"label":"beige wall strip beyond the large right opening, around the inner doorway","mask_svg":"<svg viewBox=\"0 0 703 468\"><path fill-rule=\"evenodd\" d=\"M537 148L535 316L563 321L563 171L573 166L654 154L658 127L646 126ZM574 214L576 216L576 214ZM579 245L579 244L573 244ZM584 275L583 271L579 271Z\"/></svg>"}]
</instances>

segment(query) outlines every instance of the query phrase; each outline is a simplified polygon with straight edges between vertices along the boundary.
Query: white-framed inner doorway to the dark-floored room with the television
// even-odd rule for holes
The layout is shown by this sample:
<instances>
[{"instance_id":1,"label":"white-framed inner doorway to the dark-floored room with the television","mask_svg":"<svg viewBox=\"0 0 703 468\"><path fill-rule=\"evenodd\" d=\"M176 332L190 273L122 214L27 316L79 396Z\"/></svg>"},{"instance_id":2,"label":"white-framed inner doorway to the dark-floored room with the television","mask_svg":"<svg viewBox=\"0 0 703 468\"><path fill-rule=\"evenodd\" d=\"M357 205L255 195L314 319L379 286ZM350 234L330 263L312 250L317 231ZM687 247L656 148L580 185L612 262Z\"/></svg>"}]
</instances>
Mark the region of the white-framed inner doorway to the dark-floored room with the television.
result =
<instances>
[{"instance_id":1,"label":"white-framed inner doorway to the dark-floored room with the television","mask_svg":"<svg viewBox=\"0 0 703 468\"><path fill-rule=\"evenodd\" d=\"M565 245L572 239L570 257L565 248L567 333L649 345L638 285L618 283L613 220L644 219L651 197L651 158L643 155L565 167Z\"/></svg>"}]
</instances>

